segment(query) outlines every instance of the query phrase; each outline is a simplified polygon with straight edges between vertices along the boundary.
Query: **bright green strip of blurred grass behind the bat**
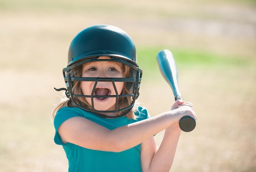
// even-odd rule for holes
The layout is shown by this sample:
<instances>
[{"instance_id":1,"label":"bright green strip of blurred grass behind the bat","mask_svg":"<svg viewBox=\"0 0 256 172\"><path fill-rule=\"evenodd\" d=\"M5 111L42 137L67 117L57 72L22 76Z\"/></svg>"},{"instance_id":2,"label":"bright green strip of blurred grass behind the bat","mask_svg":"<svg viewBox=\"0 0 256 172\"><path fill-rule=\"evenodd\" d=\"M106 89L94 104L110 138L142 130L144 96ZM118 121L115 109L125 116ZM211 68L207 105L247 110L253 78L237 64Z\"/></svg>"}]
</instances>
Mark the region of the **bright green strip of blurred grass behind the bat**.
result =
<instances>
[{"instance_id":1,"label":"bright green strip of blurred grass behind the bat","mask_svg":"<svg viewBox=\"0 0 256 172\"><path fill-rule=\"evenodd\" d=\"M161 47L144 47L137 49L138 64L144 70L156 70L156 55L163 48ZM190 50L190 49L171 49L177 67L186 68L219 68L219 67L246 67L249 65L248 58L225 56L209 51Z\"/></svg>"}]
</instances>

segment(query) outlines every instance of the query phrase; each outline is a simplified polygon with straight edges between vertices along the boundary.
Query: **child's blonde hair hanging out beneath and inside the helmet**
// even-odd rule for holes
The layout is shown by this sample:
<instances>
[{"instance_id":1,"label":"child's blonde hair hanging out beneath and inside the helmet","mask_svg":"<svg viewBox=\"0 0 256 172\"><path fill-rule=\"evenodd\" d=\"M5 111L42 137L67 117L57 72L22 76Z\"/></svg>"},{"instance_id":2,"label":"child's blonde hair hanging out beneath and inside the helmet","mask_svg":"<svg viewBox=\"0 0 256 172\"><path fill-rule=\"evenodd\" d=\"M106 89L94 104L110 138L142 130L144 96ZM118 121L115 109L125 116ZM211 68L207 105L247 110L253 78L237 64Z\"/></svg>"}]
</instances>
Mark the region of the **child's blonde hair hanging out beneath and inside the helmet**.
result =
<instances>
[{"instance_id":1,"label":"child's blonde hair hanging out beneath and inside the helmet","mask_svg":"<svg viewBox=\"0 0 256 172\"><path fill-rule=\"evenodd\" d=\"M90 62L89 62L90 63ZM120 67L122 68L122 73L124 74L124 77L129 77L129 73L130 73L130 67L121 63L121 62L115 62L118 63L120 65ZM74 77L81 77L81 73L82 73L82 69L83 69L83 65L79 65L76 68L70 70L70 76L74 76ZM73 81L72 82L72 93L74 95L83 95L83 92L81 90L81 82L80 81ZM130 94L130 90L128 90L126 84L124 84L124 88L122 90L123 95L126 94ZM79 104L80 106L83 106L85 108L92 108L92 106L90 104L88 104L88 102L85 100L84 97L74 97L74 101L76 101L77 104ZM132 103L132 97L119 97L118 100L118 109L122 109L125 107L130 106L130 104ZM61 101L54 107L53 111L52 111L52 120L54 119L56 112L63 108L63 107L77 107L73 101L71 101L69 98L67 97L62 97ZM136 119L135 116L135 111L137 110L137 105L134 105L132 107L132 110L130 110L129 112L127 112L126 117L128 119ZM117 112L117 115L120 115L121 112Z\"/></svg>"}]
</instances>

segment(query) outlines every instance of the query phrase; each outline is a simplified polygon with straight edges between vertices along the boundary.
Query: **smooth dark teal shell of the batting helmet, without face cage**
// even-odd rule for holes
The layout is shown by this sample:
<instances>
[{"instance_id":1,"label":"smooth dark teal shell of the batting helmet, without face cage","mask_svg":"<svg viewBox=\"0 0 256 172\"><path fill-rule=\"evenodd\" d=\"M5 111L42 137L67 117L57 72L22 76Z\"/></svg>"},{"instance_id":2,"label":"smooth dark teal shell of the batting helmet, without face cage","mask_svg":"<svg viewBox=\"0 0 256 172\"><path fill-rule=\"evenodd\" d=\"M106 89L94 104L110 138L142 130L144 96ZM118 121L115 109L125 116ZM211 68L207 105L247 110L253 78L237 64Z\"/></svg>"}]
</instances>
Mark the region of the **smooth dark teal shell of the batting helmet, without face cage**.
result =
<instances>
[{"instance_id":1,"label":"smooth dark teal shell of the batting helmet, without face cage","mask_svg":"<svg viewBox=\"0 0 256 172\"><path fill-rule=\"evenodd\" d=\"M132 39L116 26L95 25L78 33L70 44L67 66L93 56L115 56L138 66Z\"/></svg>"}]
</instances>

